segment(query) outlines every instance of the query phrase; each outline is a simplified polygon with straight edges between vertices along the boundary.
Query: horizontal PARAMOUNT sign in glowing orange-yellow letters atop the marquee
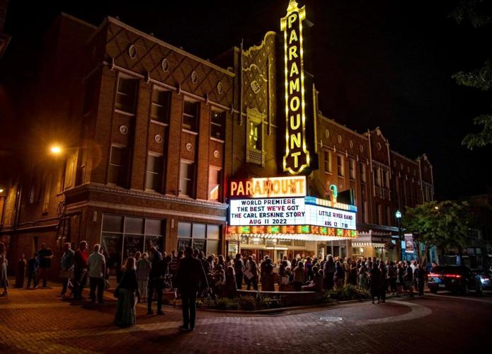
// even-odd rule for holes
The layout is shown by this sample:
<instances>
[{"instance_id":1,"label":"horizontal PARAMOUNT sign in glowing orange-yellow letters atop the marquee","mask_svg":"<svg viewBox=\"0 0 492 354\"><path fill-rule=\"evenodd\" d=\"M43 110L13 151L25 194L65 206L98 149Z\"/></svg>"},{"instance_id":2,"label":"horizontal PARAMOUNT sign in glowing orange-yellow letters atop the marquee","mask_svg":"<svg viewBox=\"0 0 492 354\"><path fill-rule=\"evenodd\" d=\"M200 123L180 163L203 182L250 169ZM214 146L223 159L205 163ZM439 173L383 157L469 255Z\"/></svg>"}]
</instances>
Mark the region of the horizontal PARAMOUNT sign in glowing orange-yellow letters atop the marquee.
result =
<instances>
[{"instance_id":1,"label":"horizontal PARAMOUNT sign in glowing orange-yellow letters atop the marquee","mask_svg":"<svg viewBox=\"0 0 492 354\"><path fill-rule=\"evenodd\" d=\"M306 177L271 177L232 180L230 198L304 197Z\"/></svg>"}]
</instances>

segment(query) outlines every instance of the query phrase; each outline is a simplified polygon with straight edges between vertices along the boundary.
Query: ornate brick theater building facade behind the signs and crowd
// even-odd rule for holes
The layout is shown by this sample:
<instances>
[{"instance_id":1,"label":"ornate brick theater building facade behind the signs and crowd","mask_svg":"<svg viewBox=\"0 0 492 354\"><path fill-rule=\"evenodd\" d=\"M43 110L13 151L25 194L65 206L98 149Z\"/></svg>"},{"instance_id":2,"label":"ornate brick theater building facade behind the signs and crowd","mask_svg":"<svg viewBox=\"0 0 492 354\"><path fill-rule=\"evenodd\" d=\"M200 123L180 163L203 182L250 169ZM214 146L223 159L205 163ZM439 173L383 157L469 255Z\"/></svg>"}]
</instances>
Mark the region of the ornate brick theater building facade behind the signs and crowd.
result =
<instances>
[{"instance_id":1,"label":"ornate brick theater building facade behind the signs and crowd","mask_svg":"<svg viewBox=\"0 0 492 354\"><path fill-rule=\"evenodd\" d=\"M221 67L115 18L96 28L62 14L24 99L38 139L1 197L10 260L41 243L58 259L81 240L101 243L115 267L151 245L239 251L225 234L227 181L285 175L278 37L232 48ZM433 198L432 166L391 151L379 128L360 134L324 117L317 95L309 195L353 189L360 237L288 247L376 256L398 231L394 212ZM55 143L59 156L47 152Z\"/></svg>"}]
</instances>

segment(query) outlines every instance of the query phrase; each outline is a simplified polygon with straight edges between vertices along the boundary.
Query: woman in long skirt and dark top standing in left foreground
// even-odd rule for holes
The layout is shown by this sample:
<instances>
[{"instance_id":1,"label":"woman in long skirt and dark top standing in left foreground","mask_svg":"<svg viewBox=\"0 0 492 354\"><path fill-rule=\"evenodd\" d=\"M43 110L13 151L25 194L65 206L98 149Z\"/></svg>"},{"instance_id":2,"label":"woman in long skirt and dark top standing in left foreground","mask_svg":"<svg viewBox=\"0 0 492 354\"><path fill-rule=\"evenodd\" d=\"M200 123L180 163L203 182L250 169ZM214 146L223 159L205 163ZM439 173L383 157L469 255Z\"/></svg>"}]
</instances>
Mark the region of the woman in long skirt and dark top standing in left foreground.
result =
<instances>
[{"instance_id":1,"label":"woman in long skirt and dark top standing in left foreground","mask_svg":"<svg viewBox=\"0 0 492 354\"><path fill-rule=\"evenodd\" d=\"M122 268L120 284L115 289L116 305L115 325L120 327L132 326L137 320L135 306L140 296L137 283L137 268L135 258L128 257Z\"/></svg>"}]
</instances>

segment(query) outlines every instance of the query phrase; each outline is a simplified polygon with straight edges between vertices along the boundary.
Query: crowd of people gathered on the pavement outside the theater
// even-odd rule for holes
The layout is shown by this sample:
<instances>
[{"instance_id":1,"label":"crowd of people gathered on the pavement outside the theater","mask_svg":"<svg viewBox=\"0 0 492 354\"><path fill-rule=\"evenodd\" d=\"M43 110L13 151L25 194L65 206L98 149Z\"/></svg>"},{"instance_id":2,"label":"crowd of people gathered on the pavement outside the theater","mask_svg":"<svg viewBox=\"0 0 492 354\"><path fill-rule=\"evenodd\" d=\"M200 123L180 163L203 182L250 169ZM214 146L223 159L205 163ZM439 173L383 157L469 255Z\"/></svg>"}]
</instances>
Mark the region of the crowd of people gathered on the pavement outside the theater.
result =
<instances>
[{"instance_id":1,"label":"crowd of people gathered on the pavement outside the theater","mask_svg":"<svg viewBox=\"0 0 492 354\"><path fill-rule=\"evenodd\" d=\"M18 261L16 287L23 287L25 268L27 267L30 288L47 287L47 270L51 267L52 251L42 244L33 257L28 260L24 255ZM71 244L63 246L59 261L59 278L62 280L60 297L74 297L82 300L84 287L89 286L92 304L103 304L103 292L109 289L108 256L99 244L88 251L86 241L81 241L76 251ZM0 243L0 286L2 295L7 295L7 260L4 244ZM382 261L378 259L338 258L328 255L324 258L300 256L289 259L283 256L276 263L269 256L256 260L255 255L244 258L240 253L230 256L205 256L203 251L187 247L185 250L161 252L151 246L149 252L136 252L126 258L117 271L118 286L114 290L118 298L115 324L131 326L135 324L137 302L147 302L147 314L154 314L152 304L156 301L157 315L164 315L162 299L164 290L174 292L181 297L183 304L183 331L193 330L196 318L196 298L235 297L237 290L275 291L313 291L322 292L353 285L370 292L372 302L386 301L387 293L392 295L408 294L413 297L414 289L423 296L427 270L416 261ZM71 293L67 295L67 291ZM178 295L179 294L179 295ZM97 302L96 302L97 301Z\"/></svg>"}]
</instances>

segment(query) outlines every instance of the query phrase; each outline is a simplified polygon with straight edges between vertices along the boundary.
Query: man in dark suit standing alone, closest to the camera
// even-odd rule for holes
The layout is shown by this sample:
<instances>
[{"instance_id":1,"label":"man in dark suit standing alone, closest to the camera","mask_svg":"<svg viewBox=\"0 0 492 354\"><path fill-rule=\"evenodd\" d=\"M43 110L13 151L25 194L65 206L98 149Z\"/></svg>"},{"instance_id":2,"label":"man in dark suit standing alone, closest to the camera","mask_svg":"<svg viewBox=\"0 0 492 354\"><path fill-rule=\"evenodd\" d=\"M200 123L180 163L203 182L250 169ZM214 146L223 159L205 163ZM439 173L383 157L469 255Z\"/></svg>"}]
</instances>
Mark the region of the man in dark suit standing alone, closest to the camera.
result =
<instances>
[{"instance_id":1,"label":"man in dark suit standing alone, closest to the camera","mask_svg":"<svg viewBox=\"0 0 492 354\"><path fill-rule=\"evenodd\" d=\"M176 287L181 293L183 307L183 326L179 329L181 331L193 331L197 311L197 293L207 288L208 282L202 262L193 258L193 249L190 246L186 247L185 257L178 264Z\"/></svg>"}]
</instances>

